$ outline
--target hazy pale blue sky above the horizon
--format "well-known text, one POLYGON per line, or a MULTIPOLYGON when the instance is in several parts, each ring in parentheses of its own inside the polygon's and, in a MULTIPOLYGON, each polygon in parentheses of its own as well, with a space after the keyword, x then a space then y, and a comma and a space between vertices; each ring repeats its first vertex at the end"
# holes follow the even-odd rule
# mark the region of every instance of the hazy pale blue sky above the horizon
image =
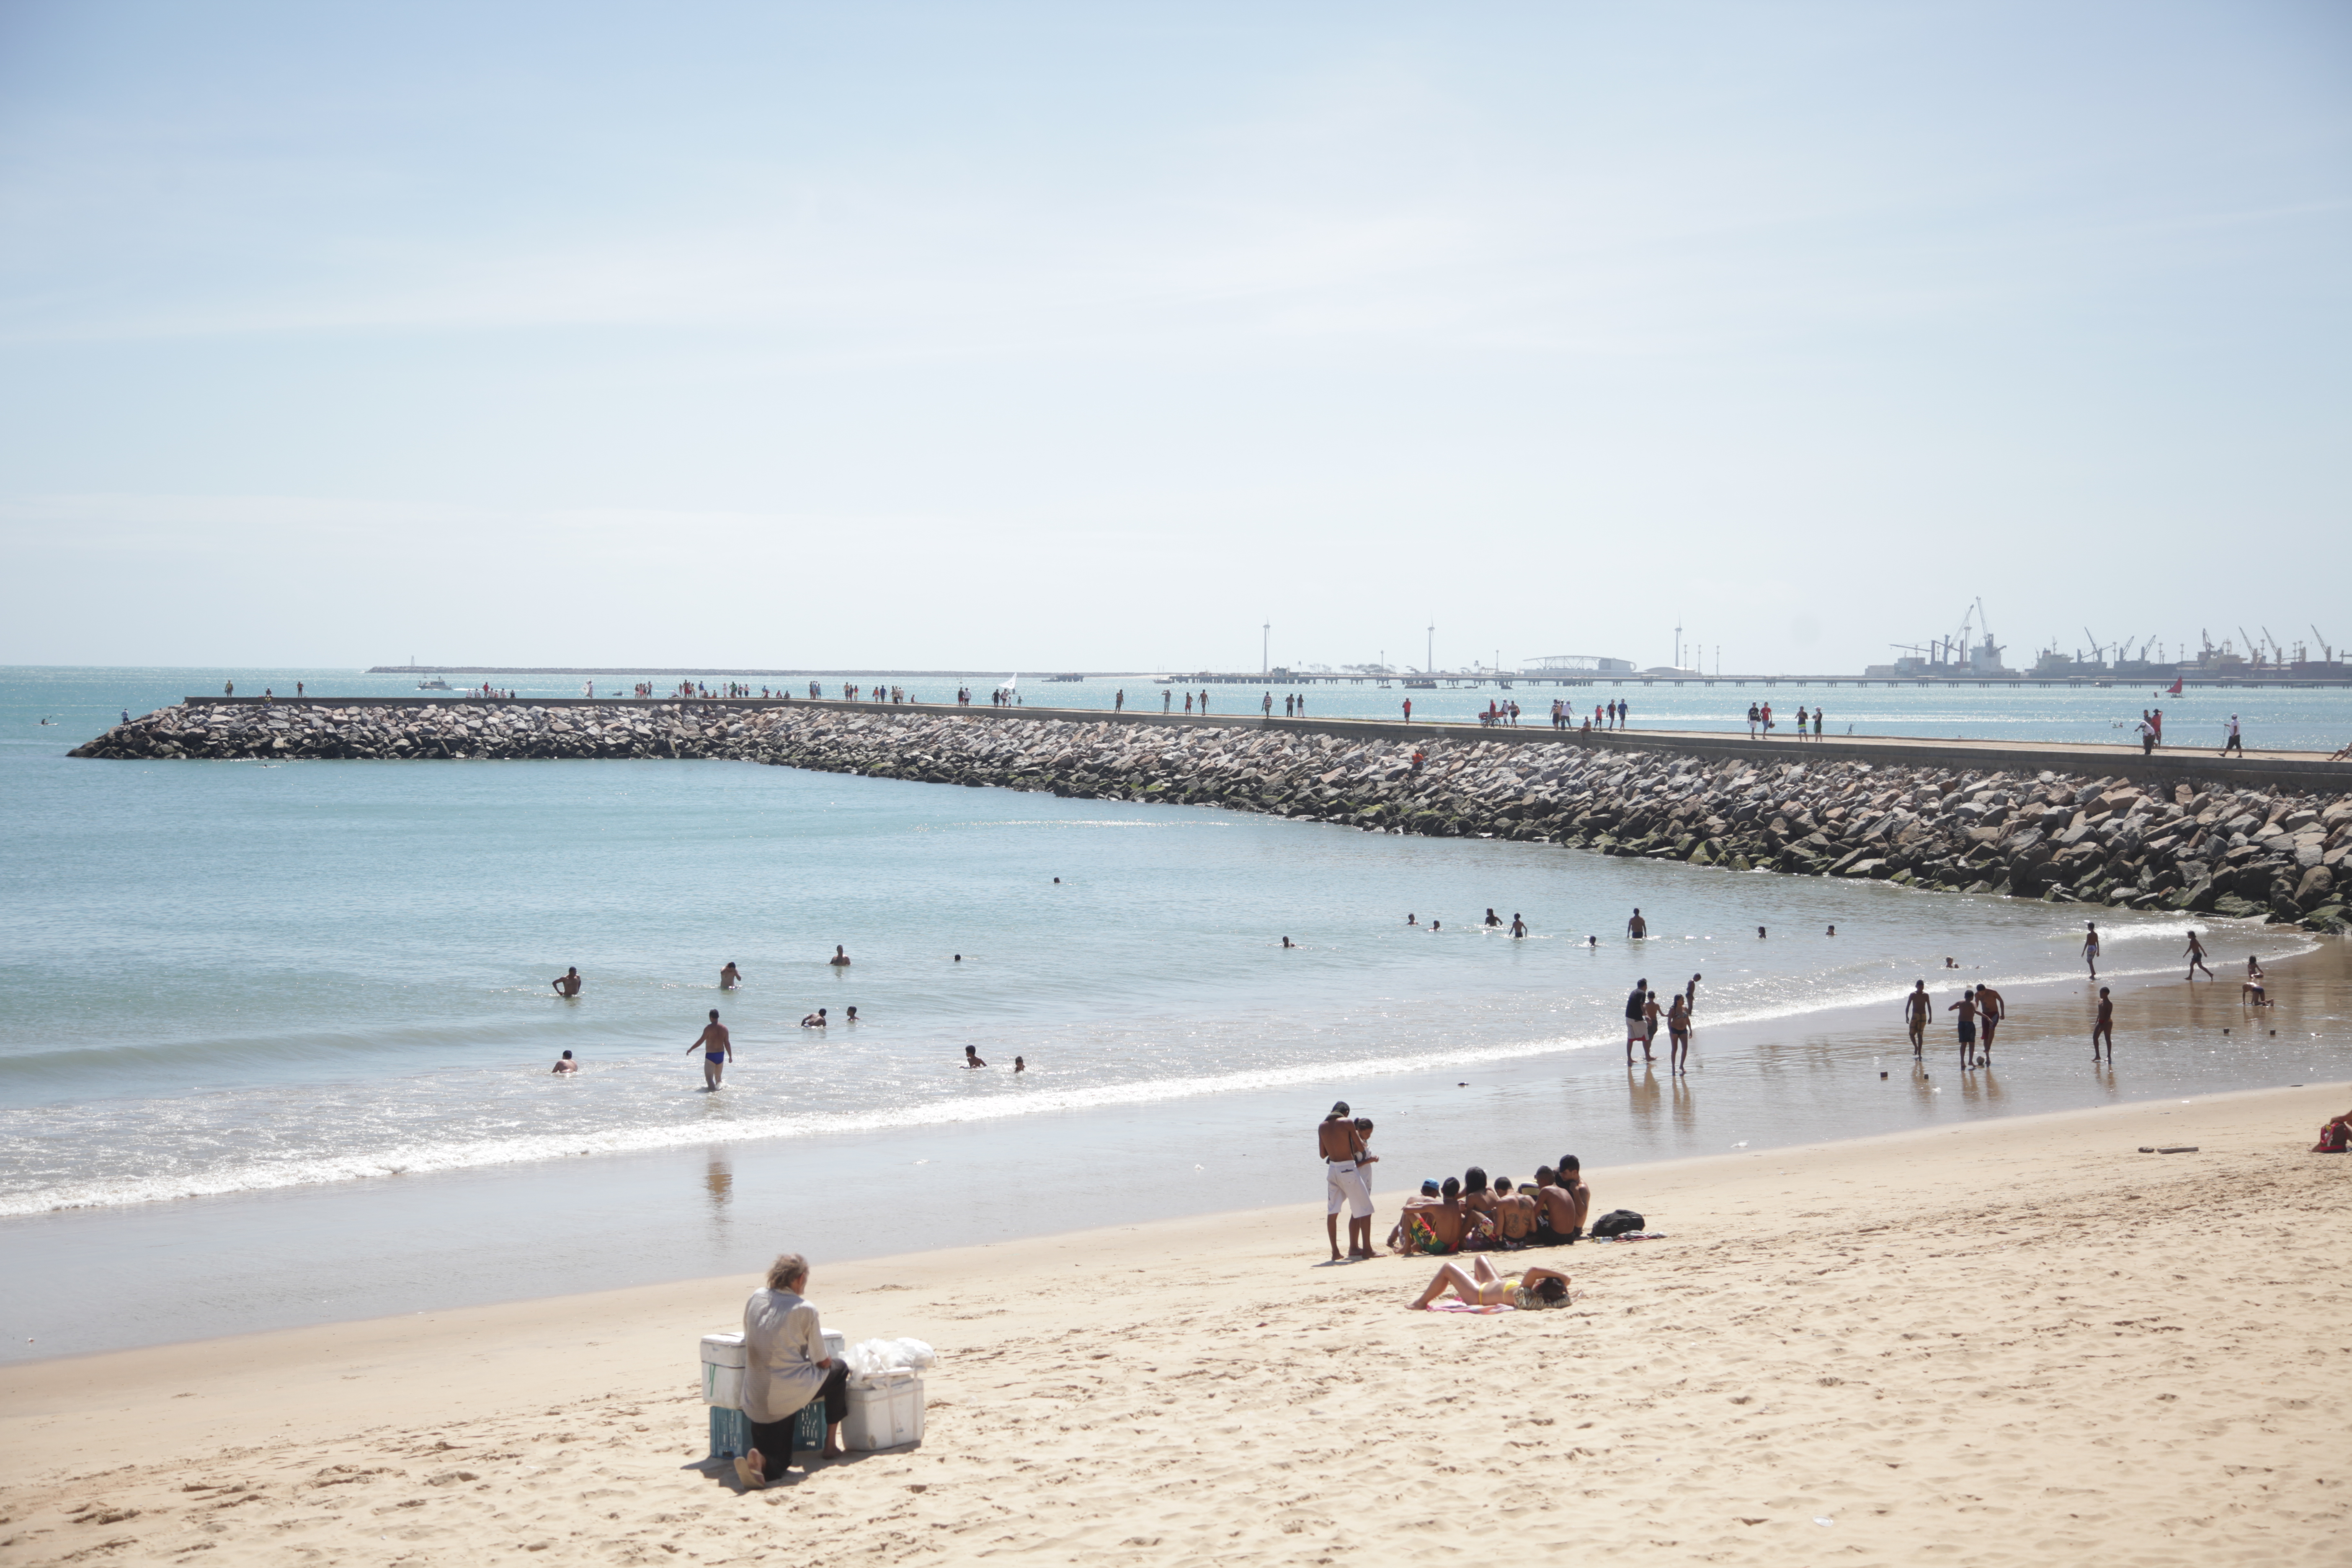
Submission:
POLYGON ((5 663, 2352 644, 2336 0, 0 0, 0 233, 5 663))

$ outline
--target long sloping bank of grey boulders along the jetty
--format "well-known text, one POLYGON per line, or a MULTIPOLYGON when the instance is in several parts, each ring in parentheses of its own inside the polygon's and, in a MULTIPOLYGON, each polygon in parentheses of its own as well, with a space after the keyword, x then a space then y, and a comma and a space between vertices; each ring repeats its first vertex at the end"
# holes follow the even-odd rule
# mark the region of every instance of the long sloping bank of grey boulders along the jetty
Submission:
POLYGON ((191 698, 73 755, 739 759, 2352 931, 2352 792, 2324 780, 2133 783, 2122 771, 1971 769, 1964 757, 1943 766, 1788 750, 1722 757, 1663 738, 1649 750, 1642 736, 1595 748, 1573 733, 1343 729, 835 703, 191 698))

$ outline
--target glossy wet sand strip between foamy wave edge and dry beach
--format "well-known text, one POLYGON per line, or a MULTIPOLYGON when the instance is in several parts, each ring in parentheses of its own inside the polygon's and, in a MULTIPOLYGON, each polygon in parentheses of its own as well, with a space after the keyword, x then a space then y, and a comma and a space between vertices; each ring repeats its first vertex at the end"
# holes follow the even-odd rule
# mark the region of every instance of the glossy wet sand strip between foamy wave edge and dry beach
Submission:
MULTIPOLYGON (((2227 973, 2227 959, 2218 966, 2227 973)), ((2164 973, 2112 976, 2122 1065, 2089 1077, 2079 1051, 2096 987, 2072 978, 2004 983, 2011 1025, 1994 1072, 1955 1072, 1955 1032, 1943 1016, 1924 1060, 1905 1060, 1893 1001, 1750 1023, 1710 1023, 1700 1013, 1686 1079, 1665 1074, 1663 1058, 1653 1070, 1628 1070, 1618 1041, 1597 1041, 1477 1070, 1357 1072, 1315 1088, 1202 1093, 913 1135, 715 1138, 656 1152, 24 1215, 0 1234, 19 1279, 52 1284, 9 1293, 7 1316, 21 1324, 9 1349, 31 1354, 7 1363, 61 1359, 49 1345, 73 1347, 68 1356, 115 1354, 106 1340, 89 1345, 82 1326, 103 1324, 111 1302, 139 1291, 188 1302, 188 1321, 200 1328, 172 1340, 193 1342, 353 1321, 383 1305, 463 1312, 548 1295, 548 1281, 555 1293, 659 1288, 729 1267, 779 1225, 797 1227, 807 1251, 880 1255, 887 1244, 875 1244, 861 1213, 901 1215, 889 1227, 901 1244, 887 1251, 896 1253, 969 1237, 1033 1241, 1120 1215, 1157 1222, 1256 1208, 1263 1194, 1312 1187, 1312 1173, 1284 1161, 1270 1128, 1301 1103, 1327 1103, 1329 1091, 1381 1121, 1388 1164, 1374 1194, 1388 1213, 1418 1175, 1470 1161, 1526 1178, 1573 1150, 1635 1171, 1736 1143, 1769 1152, 1997 1126, 2100 1100, 2253 1093, 2265 1079, 2274 1086, 2336 1072, 2338 1058, 2314 1041, 2352 1030, 2352 945, 2317 938, 2310 952, 2272 961, 2270 973, 2279 1006, 2263 1020, 2239 1004, 2234 978, 2180 985, 2164 973), (2288 1037, 2272 1039, 2270 1027, 2288 1037), (1178 1147, 1183 1159, 1155 1180, 1122 1164, 1120 1150, 1143 1145, 1178 1147), (795 1194, 821 1192, 847 1171, 858 1173, 856 1204, 800 1218, 795 1194), (452 1225, 454 1215, 480 1218, 452 1225), (129 1258, 146 1262, 127 1267, 129 1258), (40 1345, 26 1345, 26 1335, 40 1345)), ((1929 976, 1938 994, 1985 978, 1978 969, 1929 976)))

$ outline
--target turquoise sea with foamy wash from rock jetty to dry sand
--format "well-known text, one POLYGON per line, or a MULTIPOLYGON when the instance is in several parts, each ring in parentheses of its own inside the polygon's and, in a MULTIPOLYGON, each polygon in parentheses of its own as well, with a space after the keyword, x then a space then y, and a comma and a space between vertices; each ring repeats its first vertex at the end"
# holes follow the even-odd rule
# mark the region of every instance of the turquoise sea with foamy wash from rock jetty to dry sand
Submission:
MULTIPOLYGON (((120 1342, 103 1302, 134 1279, 186 1300, 139 1333, 195 1338, 722 1272, 788 1244, 873 1255, 1301 1201, 1319 1192, 1301 1128, 1334 1095, 1383 1121, 1395 1190, 1470 1161, 1524 1178, 1571 1147, 1722 1152, 2347 1063, 2333 1016, 2227 1051, 2138 1039, 2105 1077, 2072 1039, 2027 1046, 2025 1020, 1973 1086, 1877 1060, 1915 978, 1938 1006, 1957 994, 1945 954, 2013 1001, 2070 985, 2084 912, 2056 905, 753 764, 64 757, 99 717, 230 677, 414 689, 0 672, 12 1356, 120 1342), (1644 945, 1623 938, 1635 905, 1644 945), (1482 929, 1489 907, 1536 936, 1482 929), (717 992, 729 959, 736 994, 717 992), (576 1001, 548 990, 569 964, 576 1001), (1625 990, 1691 973, 1703 1072, 1628 1074, 1625 990), (717 1095, 687 1056, 710 1006, 739 1048, 717 1095), (863 1023, 802 1030, 818 1006, 863 1023), (1879 1016, 1877 1044, 1839 1023, 1879 1016), (1740 1044, 1708 1051, 1710 1032, 1740 1044), (967 1044, 985 1072, 957 1067, 967 1044), (560 1051, 576 1079, 548 1074, 560 1051), (1882 1093, 1872 1067, 1903 1072, 1882 1093)), ((1310 710, 1348 691, 1312 689, 1310 710)), ((2314 733, 2352 710, 2232 696, 2277 696, 2272 722, 2314 733)), ((2100 924, 2114 973, 2171 973, 2178 917, 2100 924)))

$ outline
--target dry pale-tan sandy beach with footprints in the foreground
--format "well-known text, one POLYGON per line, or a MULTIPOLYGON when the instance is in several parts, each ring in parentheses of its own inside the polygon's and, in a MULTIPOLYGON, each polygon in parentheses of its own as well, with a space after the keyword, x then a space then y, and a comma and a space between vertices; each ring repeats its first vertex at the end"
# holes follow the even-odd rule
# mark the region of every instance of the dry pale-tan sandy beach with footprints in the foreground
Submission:
POLYGON ((818 1260, 830 1328, 941 1349, 929 1432, 750 1495, 694 1387, 743 1279, 16 1366, 0 1554, 2345 1561, 2347 1105, 1595 1171, 1668 1239, 1548 1253, 1543 1314, 1406 1312, 1435 1265, 1319 1267, 1312 1206, 818 1260))

